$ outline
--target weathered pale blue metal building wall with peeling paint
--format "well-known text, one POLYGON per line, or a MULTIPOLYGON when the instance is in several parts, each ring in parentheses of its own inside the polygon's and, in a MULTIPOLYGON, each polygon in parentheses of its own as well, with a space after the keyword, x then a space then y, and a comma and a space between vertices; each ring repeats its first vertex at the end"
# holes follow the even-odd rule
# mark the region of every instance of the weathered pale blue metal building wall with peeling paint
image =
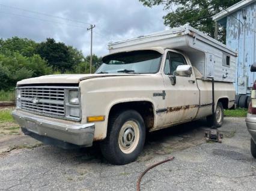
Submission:
POLYGON ((237 94, 250 93, 249 88, 256 80, 255 72, 250 72, 252 63, 256 62, 255 17, 256 2, 227 16, 226 44, 238 51, 235 81, 237 94))

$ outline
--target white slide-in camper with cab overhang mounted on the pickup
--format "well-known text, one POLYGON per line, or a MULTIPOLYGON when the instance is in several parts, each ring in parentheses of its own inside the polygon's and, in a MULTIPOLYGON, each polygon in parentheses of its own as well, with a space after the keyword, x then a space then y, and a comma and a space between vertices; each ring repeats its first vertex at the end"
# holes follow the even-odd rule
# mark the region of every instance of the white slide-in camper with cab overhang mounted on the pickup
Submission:
POLYGON ((109 53, 153 47, 183 52, 203 80, 234 82, 236 77, 236 51, 189 25, 108 44, 109 53))

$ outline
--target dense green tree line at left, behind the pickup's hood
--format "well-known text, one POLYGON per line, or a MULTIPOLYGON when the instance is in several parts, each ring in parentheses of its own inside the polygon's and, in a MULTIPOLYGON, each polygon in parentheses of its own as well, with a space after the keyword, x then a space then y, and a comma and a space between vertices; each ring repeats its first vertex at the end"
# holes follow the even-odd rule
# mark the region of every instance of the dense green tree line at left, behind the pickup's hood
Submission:
MULTIPOLYGON (((101 64, 93 55, 92 70, 101 64)), ((14 89, 17 81, 48 74, 82 74, 90 72, 90 56, 53 38, 36 43, 28 38, 0 38, 0 90, 14 89)))

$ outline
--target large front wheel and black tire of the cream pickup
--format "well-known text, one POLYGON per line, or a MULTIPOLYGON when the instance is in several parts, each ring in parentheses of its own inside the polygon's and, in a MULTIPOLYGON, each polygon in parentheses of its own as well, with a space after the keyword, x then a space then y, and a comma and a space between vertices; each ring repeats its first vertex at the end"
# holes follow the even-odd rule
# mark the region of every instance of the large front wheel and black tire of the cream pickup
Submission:
POLYGON ((126 110, 110 117, 107 137, 100 149, 110 163, 124 165, 136 160, 144 143, 144 120, 137 111, 126 110))

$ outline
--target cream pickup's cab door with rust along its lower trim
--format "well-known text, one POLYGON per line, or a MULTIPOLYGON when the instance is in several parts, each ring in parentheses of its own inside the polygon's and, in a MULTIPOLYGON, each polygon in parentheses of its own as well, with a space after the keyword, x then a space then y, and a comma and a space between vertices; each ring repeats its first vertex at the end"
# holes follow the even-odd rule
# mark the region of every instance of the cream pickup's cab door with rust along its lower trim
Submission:
POLYGON ((183 54, 174 50, 166 50, 164 59, 162 75, 166 92, 165 125, 192 120, 197 115, 200 102, 195 74, 190 77, 176 76, 174 85, 170 80, 178 65, 191 65, 191 63, 183 54))

